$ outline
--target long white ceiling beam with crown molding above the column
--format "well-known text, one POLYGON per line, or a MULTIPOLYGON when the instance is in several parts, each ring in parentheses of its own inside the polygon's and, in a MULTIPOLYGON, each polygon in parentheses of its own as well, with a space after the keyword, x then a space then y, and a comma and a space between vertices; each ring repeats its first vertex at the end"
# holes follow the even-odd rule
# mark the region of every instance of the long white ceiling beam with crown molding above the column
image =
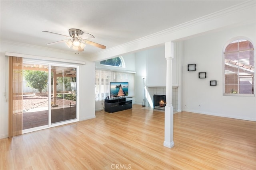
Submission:
MULTIPOLYGON (((164 44, 167 41, 178 41, 180 39, 185 39, 186 37, 190 37, 199 33, 194 33, 192 35, 188 35, 188 33, 186 35, 182 36, 173 36, 175 33, 177 32, 181 32, 182 30, 186 30, 186 29, 190 29, 190 28, 194 28, 198 25, 210 25, 208 27, 211 27, 211 21, 212 24, 216 24, 217 20, 222 21, 223 18, 226 18, 227 16, 232 16, 235 14, 240 14, 243 11, 250 11, 252 12, 254 15, 252 15, 252 19, 248 18, 248 20, 252 20, 254 22, 256 22, 255 16, 256 16, 256 1, 251 0, 251 1, 246 1, 246 2, 242 2, 240 4, 237 4, 235 6, 232 6, 230 8, 226 8, 224 10, 220 10, 218 12, 214 12, 212 14, 208 14, 206 16, 197 18, 195 20, 191 20, 185 23, 182 23, 180 25, 176 25, 174 27, 150 34, 148 36, 142 37, 140 39, 136 39, 134 41, 130 41, 128 43, 124 43, 122 45, 118 45, 116 47, 110 48, 110 49, 105 49, 104 51, 101 51, 99 53, 96 53, 95 55, 90 56, 91 61, 100 61, 104 58, 110 58, 110 57, 116 57, 118 55, 122 55, 125 53, 129 53, 132 51, 138 51, 140 49, 144 49, 147 47, 152 47, 155 45, 159 45, 159 44, 164 44), (164 38, 163 38, 164 37, 164 38), (167 40, 168 39, 168 40, 167 40), (148 43, 151 42, 151 43, 148 43), (144 44, 144 45, 142 45, 144 44), (148 45, 148 46, 147 46, 148 45), (136 47, 137 48, 136 48, 136 47), (118 53, 119 52, 119 53, 118 53), (104 58, 103 58, 104 57, 104 58)), ((244 13, 244 12, 243 12, 244 13)), ((239 21, 237 21, 239 22, 239 21)), ((228 23, 226 23, 228 24, 228 23)), ((225 27, 226 25, 222 25, 222 27, 225 27)), ((207 28, 209 31, 211 28, 207 28)), ((212 29, 217 29, 217 28, 212 28, 212 29)))

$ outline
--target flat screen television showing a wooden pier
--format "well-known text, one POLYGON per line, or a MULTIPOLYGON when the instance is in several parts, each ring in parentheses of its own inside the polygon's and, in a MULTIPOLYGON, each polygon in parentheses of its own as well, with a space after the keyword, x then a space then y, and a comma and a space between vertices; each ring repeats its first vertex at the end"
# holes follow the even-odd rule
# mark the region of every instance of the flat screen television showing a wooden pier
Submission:
POLYGON ((110 82, 110 98, 128 96, 128 82, 110 82))

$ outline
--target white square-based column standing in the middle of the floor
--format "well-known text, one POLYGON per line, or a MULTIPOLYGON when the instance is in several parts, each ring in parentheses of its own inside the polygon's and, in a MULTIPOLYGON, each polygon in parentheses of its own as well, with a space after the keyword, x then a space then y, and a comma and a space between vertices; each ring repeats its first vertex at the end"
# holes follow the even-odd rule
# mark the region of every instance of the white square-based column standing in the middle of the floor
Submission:
POLYGON ((173 107, 172 107, 172 59, 174 57, 173 42, 165 43, 166 58, 166 106, 164 110, 164 146, 174 147, 173 141, 173 107))

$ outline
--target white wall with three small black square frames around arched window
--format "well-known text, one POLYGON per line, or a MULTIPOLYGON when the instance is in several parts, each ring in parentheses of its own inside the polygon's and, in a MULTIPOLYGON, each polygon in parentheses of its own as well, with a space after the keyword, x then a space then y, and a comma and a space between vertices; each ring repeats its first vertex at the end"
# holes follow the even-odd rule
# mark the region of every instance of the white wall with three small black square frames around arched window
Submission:
POLYGON ((247 37, 255 48, 255 23, 183 42, 182 107, 184 111, 256 121, 255 97, 223 96, 223 48, 234 37, 247 37), (196 71, 188 72, 187 64, 194 63, 196 71), (199 79, 198 72, 206 72, 207 78, 199 79), (217 86, 209 86, 210 80, 217 80, 217 86))

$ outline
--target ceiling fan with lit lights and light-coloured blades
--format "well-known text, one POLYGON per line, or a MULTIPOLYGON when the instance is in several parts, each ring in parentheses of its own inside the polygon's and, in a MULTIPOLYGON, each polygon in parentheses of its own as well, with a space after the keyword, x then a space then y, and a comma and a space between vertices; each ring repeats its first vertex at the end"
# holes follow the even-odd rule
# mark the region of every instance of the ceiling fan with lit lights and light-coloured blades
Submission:
MULTIPOLYGON (((53 33, 50 31, 43 31, 43 32, 53 33)), ((69 39, 56 41, 53 43, 48 43, 46 45, 52 45, 52 44, 56 44, 56 43, 66 42, 66 45, 68 45, 69 48, 72 47, 72 49, 78 50, 78 51, 84 51, 84 47, 86 46, 86 44, 93 45, 93 46, 101 48, 101 49, 106 49, 105 45, 101 45, 101 44, 94 43, 92 41, 87 40, 89 38, 95 38, 92 34, 89 34, 89 33, 84 34, 84 32, 82 30, 75 29, 75 28, 68 29, 68 32, 69 32, 70 36, 59 34, 59 33, 53 33, 53 34, 65 36, 69 39)))

